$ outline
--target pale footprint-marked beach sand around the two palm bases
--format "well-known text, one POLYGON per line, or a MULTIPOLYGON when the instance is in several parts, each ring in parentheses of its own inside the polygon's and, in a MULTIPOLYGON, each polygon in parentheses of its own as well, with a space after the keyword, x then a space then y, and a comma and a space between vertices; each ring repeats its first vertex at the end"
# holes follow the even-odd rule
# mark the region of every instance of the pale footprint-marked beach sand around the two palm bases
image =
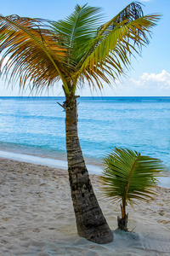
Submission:
POLYGON ((114 241, 98 245, 77 236, 65 170, 14 160, 0 160, 0 255, 170 255, 170 189, 139 207, 127 207, 129 231, 116 230, 118 205, 94 190, 114 241))

